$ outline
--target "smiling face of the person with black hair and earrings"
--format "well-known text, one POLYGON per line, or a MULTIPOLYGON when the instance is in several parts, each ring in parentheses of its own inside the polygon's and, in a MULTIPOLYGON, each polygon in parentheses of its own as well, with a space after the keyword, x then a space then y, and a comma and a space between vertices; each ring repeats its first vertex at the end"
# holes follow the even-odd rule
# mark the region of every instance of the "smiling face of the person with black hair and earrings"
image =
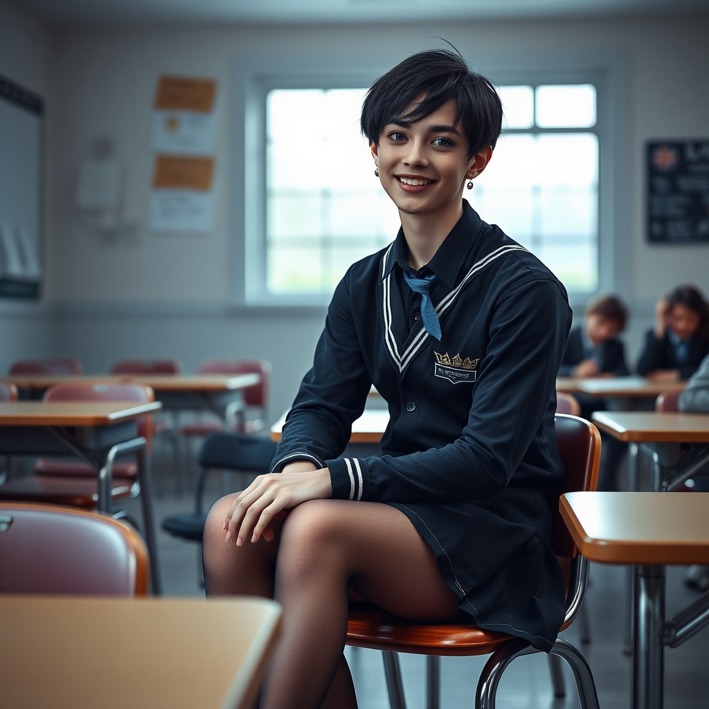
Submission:
POLYGON ((385 125, 379 145, 371 147, 386 194, 407 214, 461 203, 466 180, 477 177, 492 155, 488 147, 468 157, 467 140, 455 125, 452 99, 418 123, 385 125))

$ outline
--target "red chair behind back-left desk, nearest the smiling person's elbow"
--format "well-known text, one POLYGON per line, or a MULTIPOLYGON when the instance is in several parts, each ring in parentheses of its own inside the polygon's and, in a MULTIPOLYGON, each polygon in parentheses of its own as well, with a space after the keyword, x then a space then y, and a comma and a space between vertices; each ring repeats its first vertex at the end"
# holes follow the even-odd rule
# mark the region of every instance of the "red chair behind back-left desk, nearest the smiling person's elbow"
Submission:
MULTIPOLYGON (((226 428, 233 429, 233 432, 253 433, 264 425, 272 371, 271 363, 265 359, 208 359, 199 364, 196 374, 259 374, 261 381, 253 386, 247 386, 242 391, 241 400, 246 409, 259 410, 256 418, 247 420, 244 415, 241 421, 228 419, 226 422, 226 428)), ((245 414, 245 411, 241 413, 245 414)), ((182 426, 180 433, 187 438, 203 438, 224 430, 223 423, 198 421, 182 426)))

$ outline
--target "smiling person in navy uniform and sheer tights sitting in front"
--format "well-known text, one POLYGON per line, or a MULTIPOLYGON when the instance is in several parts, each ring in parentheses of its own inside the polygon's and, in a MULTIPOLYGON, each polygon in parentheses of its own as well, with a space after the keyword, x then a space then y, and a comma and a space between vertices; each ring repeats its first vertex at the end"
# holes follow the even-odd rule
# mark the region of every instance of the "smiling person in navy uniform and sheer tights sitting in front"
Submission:
POLYGON ((356 707, 348 598, 540 649, 556 638, 549 492, 565 476, 554 383, 571 311, 549 269, 463 199, 501 121, 490 82, 447 51, 408 57, 364 101, 401 229, 337 286, 272 473, 218 501, 204 531, 210 596, 283 607, 264 708, 356 707), (372 384, 389 405, 384 454, 338 457, 372 384))

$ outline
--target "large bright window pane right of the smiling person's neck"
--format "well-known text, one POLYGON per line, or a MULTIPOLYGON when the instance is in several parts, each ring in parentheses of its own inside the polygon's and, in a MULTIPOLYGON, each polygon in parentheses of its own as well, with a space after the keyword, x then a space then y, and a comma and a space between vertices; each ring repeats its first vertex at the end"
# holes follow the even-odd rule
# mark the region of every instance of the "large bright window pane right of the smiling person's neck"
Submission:
POLYGON ((566 289, 598 287, 598 138, 517 133, 498 141, 469 195, 489 223, 542 259, 566 289))

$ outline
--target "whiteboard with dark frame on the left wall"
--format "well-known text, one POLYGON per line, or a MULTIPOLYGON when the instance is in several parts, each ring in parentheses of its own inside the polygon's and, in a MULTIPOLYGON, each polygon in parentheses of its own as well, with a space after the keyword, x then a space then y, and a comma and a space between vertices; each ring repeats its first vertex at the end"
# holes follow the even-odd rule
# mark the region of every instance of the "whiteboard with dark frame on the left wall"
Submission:
POLYGON ((0 77, 0 296, 38 298, 42 283, 44 102, 0 77))

